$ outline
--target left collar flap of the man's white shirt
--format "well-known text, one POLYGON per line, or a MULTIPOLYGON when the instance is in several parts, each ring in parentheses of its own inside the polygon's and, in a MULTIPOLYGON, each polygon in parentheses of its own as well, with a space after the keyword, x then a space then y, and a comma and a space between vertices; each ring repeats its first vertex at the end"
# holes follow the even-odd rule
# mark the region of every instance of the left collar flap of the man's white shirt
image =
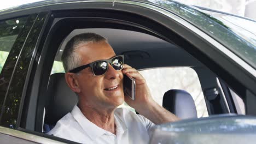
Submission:
POLYGON ((83 113, 80 111, 77 105, 74 106, 71 114, 75 118, 75 120, 79 123, 79 125, 83 128, 85 133, 90 137, 91 140, 96 140, 97 137, 103 135, 107 131, 98 127, 96 124, 92 123, 87 119, 83 113))

